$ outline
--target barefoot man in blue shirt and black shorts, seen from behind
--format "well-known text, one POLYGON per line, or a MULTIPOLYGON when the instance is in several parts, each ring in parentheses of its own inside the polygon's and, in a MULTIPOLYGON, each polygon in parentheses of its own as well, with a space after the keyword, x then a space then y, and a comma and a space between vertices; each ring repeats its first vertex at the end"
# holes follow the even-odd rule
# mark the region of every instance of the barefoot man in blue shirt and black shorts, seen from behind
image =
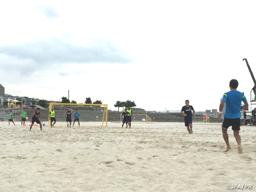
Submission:
POLYGON ((236 138, 236 142, 237 142, 238 153, 241 154, 243 151, 241 148, 241 137, 239 135, 240 118, 241 118, 240 106, 241 106, 241 102, 244 102, 244 108, 242 109, 242 111, 246 113, 248 102, 244 94, 236 90, 237 87, 238 87, 238 81, 236 79, 232 79, 229 82, 230 91, 224 93, 222 96, 222 101, 220 102, 218 119, 220 120, 222 116, 222 109, 226 102, 226 110, 224 114, 224 120, 222 122, 222 136, 227 145, 225 152, 231 149, 229 140, 228 140, 228 128, 232 126, 234 137, 236 138))

